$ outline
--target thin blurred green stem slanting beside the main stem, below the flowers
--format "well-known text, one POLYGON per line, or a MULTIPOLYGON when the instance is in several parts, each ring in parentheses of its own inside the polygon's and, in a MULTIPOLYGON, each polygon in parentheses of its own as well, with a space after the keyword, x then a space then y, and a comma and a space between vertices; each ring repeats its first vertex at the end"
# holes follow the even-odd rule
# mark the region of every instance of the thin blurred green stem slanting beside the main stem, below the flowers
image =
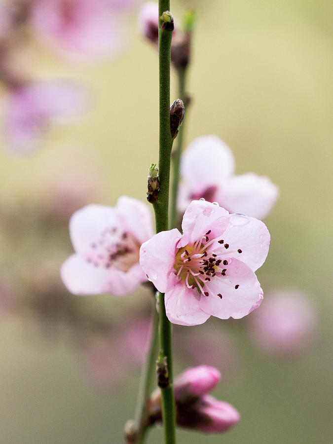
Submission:
POLYGON ((152 381, 155 381, 156 357, 158 355, 158 316, 155 307, 151 313, 151 338, 146 361, 143 365, 139 384, 139 393, 135 411, 135 425, 138 430, 136 444, 142 444, 148 429, 147 420, 147 400, 152 388, 152 381))

